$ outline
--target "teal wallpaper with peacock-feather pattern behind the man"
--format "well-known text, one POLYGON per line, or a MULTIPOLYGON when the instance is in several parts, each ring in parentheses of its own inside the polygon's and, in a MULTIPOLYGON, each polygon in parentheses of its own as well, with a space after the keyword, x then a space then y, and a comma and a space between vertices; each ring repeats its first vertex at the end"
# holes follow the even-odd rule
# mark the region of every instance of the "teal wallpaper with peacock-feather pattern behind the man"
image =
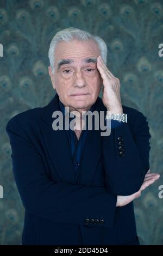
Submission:
MULTIPOLYGON (((20 245, 24 209, 12 175, 5 126, 26 109, 45 106, 55 95, 48 77, 48 47, 54 34, 77 27, 101 36, 108 46, 108 68, 120 78, 122 104, 141 111, 149 122, 151 171, 163 174, 163 1, 0 0, 1 169, 0 245, 20 245)), ((163 245, 163 175, 135 199, 141 244, 163 245)))

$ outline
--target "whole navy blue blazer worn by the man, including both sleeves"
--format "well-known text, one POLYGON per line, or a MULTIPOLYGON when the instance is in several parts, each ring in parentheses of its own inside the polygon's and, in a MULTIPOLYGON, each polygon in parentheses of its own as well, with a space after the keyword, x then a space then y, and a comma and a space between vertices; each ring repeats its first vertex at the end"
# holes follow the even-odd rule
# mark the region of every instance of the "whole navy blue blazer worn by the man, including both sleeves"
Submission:
MULTIPOLYGON (((52 128, 58 100, 55 94, 48 105, 15 115, 6 127, 25 208, 22 244, 139 245, 133 202, 116 207, 116 200, 139 191, 149 169, 146 117, 122 105, 128 123, 109 136, 88 130, 76 182, 66 131, 52 128)), ((95 110, 106 113, 100 97, 95 110)))

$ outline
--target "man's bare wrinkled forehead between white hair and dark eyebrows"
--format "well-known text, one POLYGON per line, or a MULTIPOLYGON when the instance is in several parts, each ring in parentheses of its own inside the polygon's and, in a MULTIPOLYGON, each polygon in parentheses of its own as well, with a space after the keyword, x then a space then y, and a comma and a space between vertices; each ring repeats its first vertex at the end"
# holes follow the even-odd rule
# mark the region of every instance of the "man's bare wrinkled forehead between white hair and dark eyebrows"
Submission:
POLYGON ((86 58, 97 58, 99 54, 98 45, 92 40, 61 41, 55 47, 55 62, 58 63, 62 59, 73 59, 73 62, 83 62, 86 58))

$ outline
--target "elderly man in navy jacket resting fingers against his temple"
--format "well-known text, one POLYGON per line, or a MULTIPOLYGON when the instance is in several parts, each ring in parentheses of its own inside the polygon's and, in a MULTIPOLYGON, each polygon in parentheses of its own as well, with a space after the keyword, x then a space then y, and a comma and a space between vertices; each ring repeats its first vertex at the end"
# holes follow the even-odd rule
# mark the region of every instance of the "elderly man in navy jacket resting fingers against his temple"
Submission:
POLYGON ((133 200, 159 174, 149 172, 146 117, 122 105, 120 80, 106 67, 106 54, 99 36, 77 28, 55 34, 49 75, 57 93, 47 106, 7 124, 25 208, 23 245, 139 245, 133 200), (110 120, 109 136, 83 129, 83 112, 93 111, 110 120), (58 112, 70 120, 79 113, 74 130, 54 129, 58 112))

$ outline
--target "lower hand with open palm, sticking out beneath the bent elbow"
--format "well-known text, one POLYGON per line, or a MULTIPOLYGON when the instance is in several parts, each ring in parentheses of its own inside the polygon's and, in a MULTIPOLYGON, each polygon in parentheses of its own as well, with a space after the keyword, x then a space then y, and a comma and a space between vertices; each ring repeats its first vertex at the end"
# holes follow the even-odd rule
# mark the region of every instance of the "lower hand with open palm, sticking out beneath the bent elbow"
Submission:
POLYGON ((145 179, 143 181, 143 184, 140 187, 140 190, 137 191, 134 194, 130 194, 129 196, 117 196, 117 204, 116 206, 124 206, 129 204, 131 201, 133 201, 135 198, 138 198, 141 196, 141 192, 145 190, 149 185, 153 184, 155 180, 158 180, 160 178, 160 174, 158 173, 149 173, 150 170, 148 170, 145 179))

